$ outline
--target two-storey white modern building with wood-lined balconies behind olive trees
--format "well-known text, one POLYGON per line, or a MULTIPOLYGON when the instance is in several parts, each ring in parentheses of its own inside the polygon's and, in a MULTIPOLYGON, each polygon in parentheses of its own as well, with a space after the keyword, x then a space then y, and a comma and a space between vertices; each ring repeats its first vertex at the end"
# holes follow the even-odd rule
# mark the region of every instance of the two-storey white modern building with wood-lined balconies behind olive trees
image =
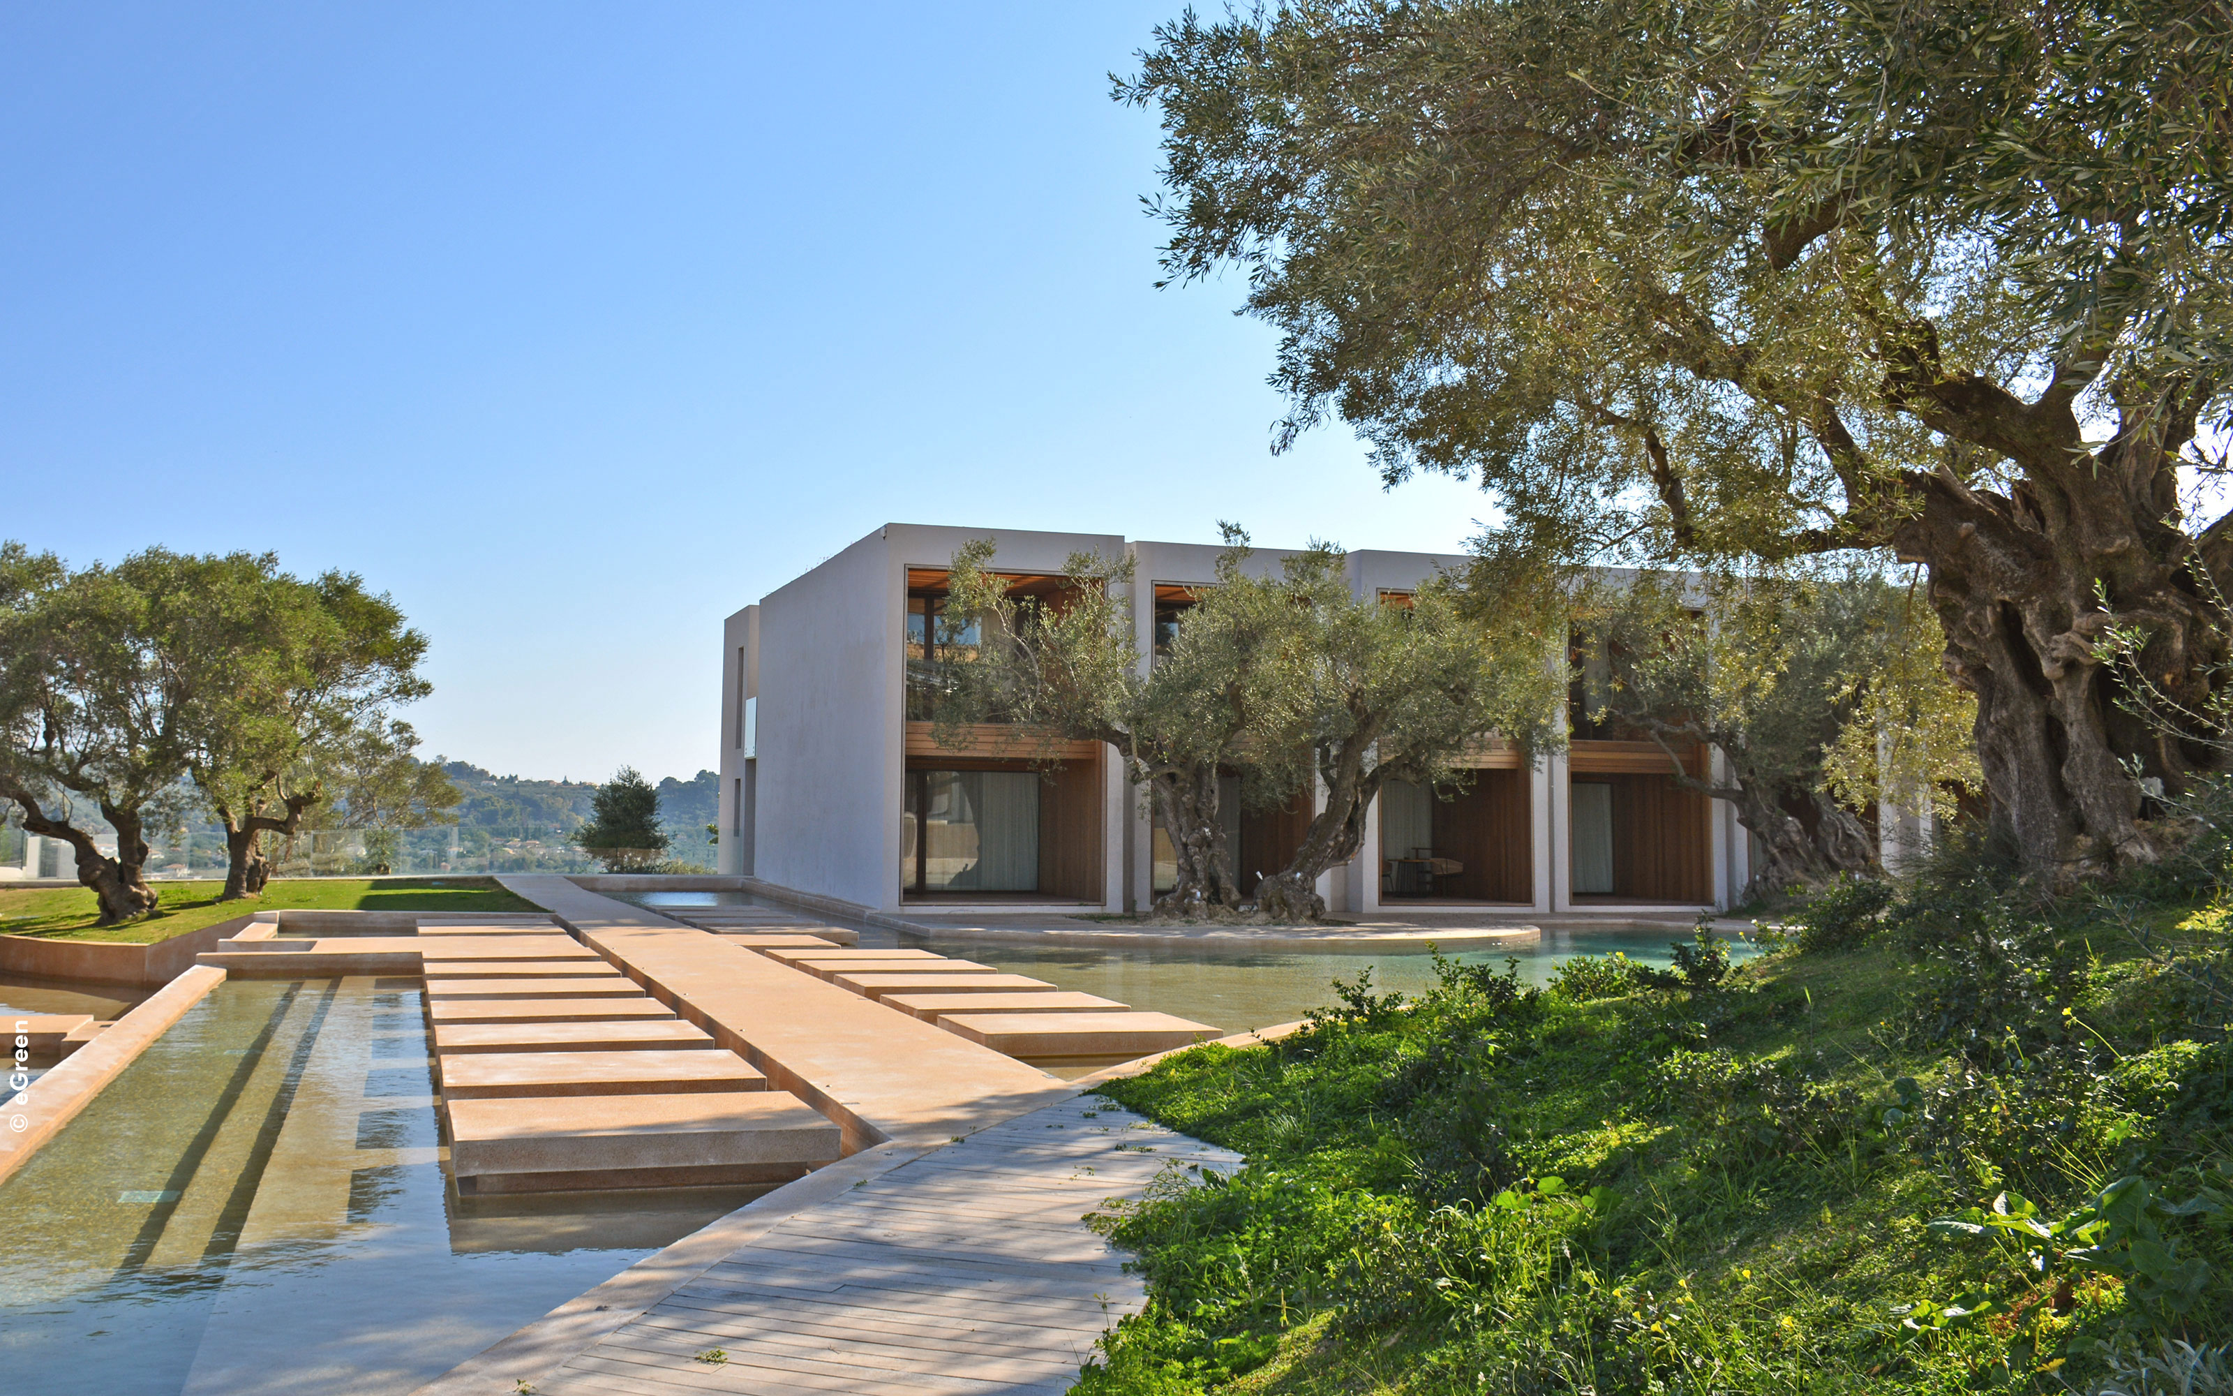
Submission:
MULTIPOLYGON (((1168 887, 1168 844, 1105 746, 1072 744, 1047 773, 998 730, 951 748, 911 717, 909 663, 936 659, 947 567, 976 538, 994 541, 991 565, 1016 592, 1061 585, 1074 552, 1130 556, 1141 663, 1159 625, 1215 581, 1221 552, 893 523, 739 610, 721 637, 723 873, 942 914, 1137 911, 1168 887)), ((1248 565, 1271 572, 1282 556, 1257 549, 1248 565)), ((1400 599, 1463 561, 1351 552, 1349 576, 1358 596, 1400 599)), ((1536 768, 1498 744, 1474 759, 1456 797, 1389 786, 1376 800, 1362 853, 1320 885, 1335 914, 1666 914, 1726 907, 1748 878, 1735 809, 1677 784, 1657 744, 1576 730, 1536 768)), ((1713 757, 1690 759, 1704 775, 1713 757)), ((1313 813, 1304 797, 1264 813, 1221 804, 1244 889, 1286 862, 1313 813)))

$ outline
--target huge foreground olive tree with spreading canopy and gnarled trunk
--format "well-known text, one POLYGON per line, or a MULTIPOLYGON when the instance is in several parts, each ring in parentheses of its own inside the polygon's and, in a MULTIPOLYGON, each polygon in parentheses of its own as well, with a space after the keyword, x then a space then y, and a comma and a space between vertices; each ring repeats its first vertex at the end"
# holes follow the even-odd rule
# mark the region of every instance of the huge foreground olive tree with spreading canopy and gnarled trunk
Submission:
POLYGON ((2233 11, 2135 0, 1313 0, 1163 25, 1166 268, 1248 272, 1284 436, 1478 478, 1543 558, 1923 563, 1994 824, 2159 858, 2215 759, 2097 654, 2226 681, 2233 11))

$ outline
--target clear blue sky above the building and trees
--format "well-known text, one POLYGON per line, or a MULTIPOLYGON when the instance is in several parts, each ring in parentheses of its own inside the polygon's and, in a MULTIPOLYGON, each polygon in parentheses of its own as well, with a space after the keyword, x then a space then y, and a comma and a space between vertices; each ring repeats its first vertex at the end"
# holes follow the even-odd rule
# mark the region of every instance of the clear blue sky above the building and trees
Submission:
POLYGON ((715 764, 721 616, 887 520, 1456 549, 1154 290, 1177 9, 13 4, 0 536, 362 572, 429 755, 576 780, 715 764))

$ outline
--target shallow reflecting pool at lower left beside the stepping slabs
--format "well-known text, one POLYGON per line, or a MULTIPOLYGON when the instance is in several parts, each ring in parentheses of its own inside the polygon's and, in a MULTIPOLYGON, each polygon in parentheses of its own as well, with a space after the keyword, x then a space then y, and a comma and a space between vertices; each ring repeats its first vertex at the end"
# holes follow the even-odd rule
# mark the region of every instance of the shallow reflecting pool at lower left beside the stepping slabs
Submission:
POLYGON ((456 1197, 420 998, 226 983, 0 1184, 0 1389, 411 1392, 755 1195, 456 1197))

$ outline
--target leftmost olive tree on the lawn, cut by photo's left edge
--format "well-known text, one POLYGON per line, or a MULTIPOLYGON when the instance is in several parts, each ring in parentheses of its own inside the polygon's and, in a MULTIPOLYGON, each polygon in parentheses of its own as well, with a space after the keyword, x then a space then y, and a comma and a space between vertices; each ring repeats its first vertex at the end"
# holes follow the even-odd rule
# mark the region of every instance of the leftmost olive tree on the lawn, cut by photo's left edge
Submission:
POLYGON ((237 646, 203 596, 257 558, 150 547, 71 572, 54 554, 0 545, 0 800, 22 829, 63 840, 100 925, 156 907, 145 880, 150 817, 170 822, 212 695, 237 646), (105 853, 76 809, 116 831, 105 853))

